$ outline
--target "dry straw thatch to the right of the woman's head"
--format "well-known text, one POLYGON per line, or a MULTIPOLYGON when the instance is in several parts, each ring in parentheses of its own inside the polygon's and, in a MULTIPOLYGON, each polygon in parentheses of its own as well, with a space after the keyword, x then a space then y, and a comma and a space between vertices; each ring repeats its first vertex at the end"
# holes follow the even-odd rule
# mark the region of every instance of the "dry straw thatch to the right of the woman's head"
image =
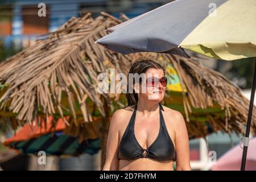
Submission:
MULTIPOLYGON (((206 108, 213 106, 216 102, 222 110, 225 110, 225 118, 218 118, 218 122, 211 115, 208 115, 208 122, 214 131, 221 130, 225 133, 235 131, 237 134, 245 133, 249 100, 242 95, 242 90, 232 84, 224 75, 204 67, 196 59, 184 59, 183 57, 172 57, 172 63, 181 79, 181 82, 188 90, 188 97, 184 97, 184 110, 186 118, 188 112, 191 113, 191 106, 206 108)), ((256 134, 256 107, 252 117, 252 132, 256 134)), ((199 124, 199 123, 197 123, 199 124)), ((201 127, 204 128, 204 127, 201 127)), ((205 133, 205 132, 204 132, 205 133)))

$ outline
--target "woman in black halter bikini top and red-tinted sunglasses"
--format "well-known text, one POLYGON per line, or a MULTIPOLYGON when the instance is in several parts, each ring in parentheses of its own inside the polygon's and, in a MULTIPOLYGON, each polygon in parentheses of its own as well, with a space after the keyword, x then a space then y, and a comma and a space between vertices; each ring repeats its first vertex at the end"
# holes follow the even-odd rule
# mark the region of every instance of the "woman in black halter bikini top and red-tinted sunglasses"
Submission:
POLYGON ((167 85, 164 68, 137 60, 129 73, 144 73, 145 79, 128 83, 128 106, 112 116, 103 170, 174 170, 175 161, 176 170, 191 170, 183 115, 160 104, 167 85))

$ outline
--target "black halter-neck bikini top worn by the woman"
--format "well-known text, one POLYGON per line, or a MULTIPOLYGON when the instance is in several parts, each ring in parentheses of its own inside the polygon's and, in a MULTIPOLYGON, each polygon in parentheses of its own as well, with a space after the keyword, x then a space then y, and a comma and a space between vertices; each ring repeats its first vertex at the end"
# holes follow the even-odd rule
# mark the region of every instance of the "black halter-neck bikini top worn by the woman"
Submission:
POLYGON ((137 111, 137 105, 134 107, 133 115, 131 115, 129 124, 119 143, 118 159, 133 160, 138 158, 151 158, 159 161, 176 160, 174 143, 166 129, 162 114, 163 106, 159 103, 160 129, 158 137, 147 148, 144 149, 135 138, 134 123, 137 111))

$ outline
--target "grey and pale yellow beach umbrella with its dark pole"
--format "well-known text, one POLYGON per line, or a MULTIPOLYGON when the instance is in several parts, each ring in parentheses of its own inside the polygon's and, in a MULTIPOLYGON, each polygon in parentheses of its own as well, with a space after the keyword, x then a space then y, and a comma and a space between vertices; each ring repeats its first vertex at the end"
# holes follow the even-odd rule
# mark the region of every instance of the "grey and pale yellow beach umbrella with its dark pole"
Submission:
MULTIPOLYGON (((254 0, 174 1, 109 28, 112 33, 96 43, 123 54, 151 51, 188 57, 185 48, 221 60, 256 57, 255 9, 254 0)), ((249 144, 255 77, 254 72, 241 170, 249 144)))

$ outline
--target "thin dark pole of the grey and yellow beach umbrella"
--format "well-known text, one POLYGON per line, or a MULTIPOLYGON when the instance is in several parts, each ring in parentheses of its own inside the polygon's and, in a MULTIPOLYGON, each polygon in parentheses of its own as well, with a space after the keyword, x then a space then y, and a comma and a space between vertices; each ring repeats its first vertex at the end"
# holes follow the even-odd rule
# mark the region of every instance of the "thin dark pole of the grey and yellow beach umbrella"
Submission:
POLYGON ((245 133, 245 137, 243 138, 243 155, 242 155, 241 171, 245 171, 247 148, 249 146, 251 115, 253 113, 253 102, 254 102, 254 94, 255 94, 255 86, 256 86, 255 72, 256 72, 256 60, 255 60, 255 67, 254 67, 253 86, 251 87, 251 98, 250 98, 249 113, 247 118, 246 133, 245 133))

